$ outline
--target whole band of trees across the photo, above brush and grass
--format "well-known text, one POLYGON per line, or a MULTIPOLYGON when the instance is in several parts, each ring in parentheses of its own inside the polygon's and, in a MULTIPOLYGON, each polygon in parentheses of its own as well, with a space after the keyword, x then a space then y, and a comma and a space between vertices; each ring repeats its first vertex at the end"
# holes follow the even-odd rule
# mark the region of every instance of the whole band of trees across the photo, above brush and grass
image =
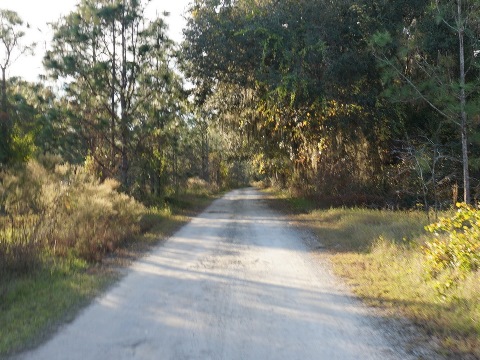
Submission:
POLYGON ((195 176, 325 204, 478 198, 475 1, 195 0, 180 46, 145 6, 81 0, 53 24, 60 92, 6 79, 28 29, 2 10, 2 166, 52 153, 139 199, 195 176))

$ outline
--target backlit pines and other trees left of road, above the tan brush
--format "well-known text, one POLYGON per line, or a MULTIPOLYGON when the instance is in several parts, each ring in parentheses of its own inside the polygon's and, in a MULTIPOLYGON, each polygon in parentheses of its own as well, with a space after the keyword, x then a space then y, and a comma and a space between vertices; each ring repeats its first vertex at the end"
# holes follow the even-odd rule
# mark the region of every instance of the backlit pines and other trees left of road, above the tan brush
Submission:
POLYGON ((16 58, 35 50, 22 45, 29 28, 20 16, 0 11, 3 170, 57 155, 147 203, 189 178, 227 185, 228 164, 217 161, 221 139, 189 100, 168 14, 147 18, 146 5, 79 1, 52 24, 47 78, 36 83, 6 77, 16 58))

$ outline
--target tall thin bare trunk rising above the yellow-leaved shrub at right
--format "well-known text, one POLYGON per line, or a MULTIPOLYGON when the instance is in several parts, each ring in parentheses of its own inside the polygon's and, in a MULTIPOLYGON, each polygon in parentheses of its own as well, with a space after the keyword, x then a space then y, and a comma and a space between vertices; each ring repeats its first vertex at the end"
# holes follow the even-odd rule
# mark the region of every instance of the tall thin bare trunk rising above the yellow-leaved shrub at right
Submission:
POLYGON ((468 123, 465 95, 465 48, 463 44, 465 36, 465 24, 462 19, 462 0, 457 0, 457 15, 458 15, 458 40, 459 40, 459 55, 460 55, 460 128, 462 133, 462 164, 463 164, 463 201, 470 203, 470 175, 468 171, 468 123))

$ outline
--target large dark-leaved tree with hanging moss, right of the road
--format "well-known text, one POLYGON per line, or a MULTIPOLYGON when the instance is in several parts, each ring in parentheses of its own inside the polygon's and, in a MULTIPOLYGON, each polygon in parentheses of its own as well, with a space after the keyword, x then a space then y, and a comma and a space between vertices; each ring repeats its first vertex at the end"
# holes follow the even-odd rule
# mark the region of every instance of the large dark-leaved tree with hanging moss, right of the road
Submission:
POLYGON ((267 176, 338 195, 381 187, 395 114, 378 101, 362 6, 203 0, 191 15, 184 57, 198 102, 246 138, 267 176))

